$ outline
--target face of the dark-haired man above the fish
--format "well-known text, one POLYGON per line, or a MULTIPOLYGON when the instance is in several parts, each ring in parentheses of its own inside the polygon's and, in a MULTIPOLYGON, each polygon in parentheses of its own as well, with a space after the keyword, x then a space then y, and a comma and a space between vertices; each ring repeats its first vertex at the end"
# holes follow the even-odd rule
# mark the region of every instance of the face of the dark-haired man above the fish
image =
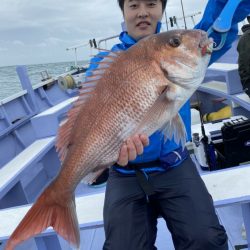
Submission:
POLYGON ((161 0, 125 0, 124 19, 128 34, 139 40, 156 31, 162 18, 161 0))

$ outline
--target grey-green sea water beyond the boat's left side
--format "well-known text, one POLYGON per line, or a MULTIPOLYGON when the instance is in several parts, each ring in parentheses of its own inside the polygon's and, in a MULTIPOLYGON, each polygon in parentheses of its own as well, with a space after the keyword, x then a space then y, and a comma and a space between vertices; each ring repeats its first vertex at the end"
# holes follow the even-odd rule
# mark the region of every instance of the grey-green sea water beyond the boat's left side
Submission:
MULTIPOLYGON (((78 65, 83 66, 87 61, 79 61, 78 65)), ((28 74, 32 85, 42 80, 41 72, 47 70, 49 76, 56 77, 66 72, 66 69, 74 65, 74 62, 44 63, 27 65, 28 74)), ((22 90, 16 66, 0 67, 0 100, 11 96, 22 90)))

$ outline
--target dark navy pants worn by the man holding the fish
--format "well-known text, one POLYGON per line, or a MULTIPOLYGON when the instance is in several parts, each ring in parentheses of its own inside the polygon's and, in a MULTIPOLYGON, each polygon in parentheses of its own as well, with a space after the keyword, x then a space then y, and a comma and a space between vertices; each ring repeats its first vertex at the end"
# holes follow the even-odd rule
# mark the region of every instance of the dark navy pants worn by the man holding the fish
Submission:
MULTIPOLYGON (((162 216, 177 250, 226 250, 227 236, 192 160, 149 174, 155 194, 147 202, 132 175, 110 170, 104 204, 104 250, 153 250, 162 216)), ((168 246, 166 245, 166 249, 168 246)))

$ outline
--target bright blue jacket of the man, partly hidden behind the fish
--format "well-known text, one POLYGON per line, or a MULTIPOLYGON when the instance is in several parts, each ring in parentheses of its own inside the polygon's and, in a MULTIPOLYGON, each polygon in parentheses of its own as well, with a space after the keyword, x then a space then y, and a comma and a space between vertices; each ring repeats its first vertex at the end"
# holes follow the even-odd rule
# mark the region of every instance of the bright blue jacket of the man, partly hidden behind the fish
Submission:
MULTIPOLYGON (((208 14, 209 15, 209 14, 208 14)), ((203 19, 206 18, 203 16, 203 19)), ((207 26, 206 22, 200 22, 195 29, 203 29, 202 24, 206 24, 204 26, 207 26)), ((156 33, 160 32, 160 23, 157 25, 156 33)), ((203 30, 207 30, 209 27, 205 27, 203 30)), ((216 36, 216 34, 215 34, 216 36)), ((219 34, 218 34, 219 36, 219 34)), ((210 64, 213 63, 215 60, 217 60, 220 56, 222 56, 231 46, 231 43, 236 39, 237 37, 237 28, 234 26, 229 34, 226 41, 225 46, 219 50, 215 51, 212 54, 210 64)), ((134 40, 132 37, 128 35, 126 31, 123 31, 119 39, 121 43, 116 44, 111 49, 112 51, 121 51, 121 50, 127 50, 131 46, 133 46, 136 43, 136 40, 134 40)), ((216 37, 214 38, 216 40, 216 37)), ((107 55, 107 52, 100 52, 99 55, 107 55)), ((91 75, 91 71, 98 67, 96 62, 100 61, 101 59, 98 57, 94 57, 90 61, 90 67, 88 71, 86 72, 86 76, 91 75)), ((182 117, 182 120, 185 124, 186 131, 187 131, 187 141, 191 140, 191 111, 190 111, 190 102, 187 101, 182 108, 179 111, 180 116, 182 117)), ((180 145, 177 145, 174 140, 167 140, 164 142, 164 135, 160 131, 156 131, 154 134, 152 134, 149 137, 149 145, 144 148, 144 152, 142 155, 138 155, 134 161, 130 161, 129 164, 141 164, 145 162, 161 162, 161 164, 152 164, 152 167, 143 169, 146 172, 152 172, 152 171, 166 171, 166 169, 176 167, 181 164, 181 162, 186 159, 187 157, 187 150, 182 151, 180 145)), ((115 169, 121 173, 131 173, 131 170, 128 170, 124 167, 119 167, 118 165, 115 165, 115 169)))

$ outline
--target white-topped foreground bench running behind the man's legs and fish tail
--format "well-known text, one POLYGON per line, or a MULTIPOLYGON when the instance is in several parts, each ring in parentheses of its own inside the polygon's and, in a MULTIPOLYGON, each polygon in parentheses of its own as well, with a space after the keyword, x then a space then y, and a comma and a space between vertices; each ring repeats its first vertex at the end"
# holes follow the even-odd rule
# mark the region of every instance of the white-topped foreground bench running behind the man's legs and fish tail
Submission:
MULTIPOLYGON (((202 175, 202 179, 214 199, 215 207, 218 208, 242 204, 243 219, 247 230, 248 242, 250 242, 248 233, 248 230, 250 229, 249 176, 250 165, 219 170, 202 175)), ((76 198, 77 216, 81 230, 94 229, 103 226, 103 202, 104 192, 76 198)), ((31 205, 25 205, 4 209, 2 211, 0 210, 0 241, 3 242, 3 246, 30 206, 31 205)), ((36 244, 41 244, 42 241, 44 244, 45 241, 47 248, 38 247, 38 249, 64 249, 62 246, 59 246, 59 243, 62 241, 58 238, 52 228, 48 228, 36 237, 36 244), (54 237, 53 240, 51 238, 52 236, 54 237), (50 240, 46 239, 47 237, 50 237, 50 240)), ((66 243, 64 242, 64 244, 66 243)))

